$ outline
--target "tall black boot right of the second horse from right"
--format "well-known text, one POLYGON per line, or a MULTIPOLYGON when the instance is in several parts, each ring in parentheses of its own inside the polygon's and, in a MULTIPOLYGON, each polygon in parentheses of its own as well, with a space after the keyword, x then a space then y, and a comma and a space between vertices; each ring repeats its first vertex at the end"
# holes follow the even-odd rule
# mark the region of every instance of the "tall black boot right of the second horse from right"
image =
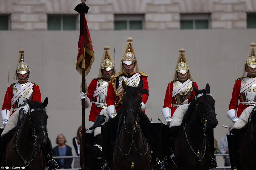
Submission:
POLYGON ((218 167, 217 162, 213 158, 213 154, 214 154, 213 129, 207 129, 206 134, 207 134, 207 137, 208 137, 208 142, 209 142, 209 147, 210 147, 210 154, 211 154, 209 169, 217 168, 218 167))

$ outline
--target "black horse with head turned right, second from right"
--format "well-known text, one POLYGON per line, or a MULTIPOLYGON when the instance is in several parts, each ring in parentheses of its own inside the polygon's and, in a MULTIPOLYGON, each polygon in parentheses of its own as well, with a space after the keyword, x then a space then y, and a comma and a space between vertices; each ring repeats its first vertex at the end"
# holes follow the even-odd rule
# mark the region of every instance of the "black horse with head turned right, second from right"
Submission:
POLYGON ((208 170, 210 149, 208 146, 207 130, 213 130, 218 124, 215 114, 215 100, 210 94, 210 86, 205 90, 197 90, 183 117, 180 133, 175 134, 170 147, 174 152, 179 170, 208 170))

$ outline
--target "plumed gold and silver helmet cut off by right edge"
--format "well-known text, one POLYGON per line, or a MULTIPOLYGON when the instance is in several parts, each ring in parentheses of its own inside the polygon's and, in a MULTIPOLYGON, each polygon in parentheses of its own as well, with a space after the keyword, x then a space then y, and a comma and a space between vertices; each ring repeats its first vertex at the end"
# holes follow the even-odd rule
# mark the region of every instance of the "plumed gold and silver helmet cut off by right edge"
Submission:
MULTIPOLYGON (((247 54, 247 59, 245 62, 245 67, 243 69, 243 76, 245 76, 245 68, 247 68, 248 70, 251 70, 250 68, 256 68, 256 58, 255 58, 255 43, 252 42, 250 43, 250 49, 249 52, 247 54)), ((252 71, 251 71, 252 72, 252 71)))

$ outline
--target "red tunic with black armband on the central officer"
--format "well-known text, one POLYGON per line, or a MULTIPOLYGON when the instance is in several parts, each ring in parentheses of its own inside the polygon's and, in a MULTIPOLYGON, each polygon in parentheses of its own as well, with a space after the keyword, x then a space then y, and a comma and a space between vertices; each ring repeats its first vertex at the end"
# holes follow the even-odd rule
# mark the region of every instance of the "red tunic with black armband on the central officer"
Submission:
MULTIPOLYGON (((122 75, 121 75, 122 76, 122 75)), ((114 87, 112 85, 112 81, 110 81, 109 84, 109 89, 108 89, 108 94, 107 94, 107 98, 106 98, 106 102, 107 102, 107 106, 110 105, 115 105, 115 93, 114 93, 114 87)), ((142 87, 142 102, 144 104, 146 104, 147 99, 148 99, 148 82, 147 82, 147 77, 142 76, 141 75, 141 80, 143 82, 143 87, 142 87)), ((120 98, 118 96, 116 96, 116 103, 118 103, 118 101, 120 100, 120 98)), ((122 108, 122 106, 116 106, 116 111, 118 112, 118 110, 122 108)), ((145 111, 142 111, 145 113, 145 111)))

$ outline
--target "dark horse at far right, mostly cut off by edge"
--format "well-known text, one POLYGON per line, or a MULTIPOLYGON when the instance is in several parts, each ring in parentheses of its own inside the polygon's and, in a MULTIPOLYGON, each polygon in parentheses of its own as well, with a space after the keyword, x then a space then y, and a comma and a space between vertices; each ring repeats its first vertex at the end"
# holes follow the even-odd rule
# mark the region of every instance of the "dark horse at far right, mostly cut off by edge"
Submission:
POLYGON ((256 167, 256 109, 253 108, 249 119, 249 125, 241 129, 239 139, 240 168, 239 170, 250 170, 256 167))

